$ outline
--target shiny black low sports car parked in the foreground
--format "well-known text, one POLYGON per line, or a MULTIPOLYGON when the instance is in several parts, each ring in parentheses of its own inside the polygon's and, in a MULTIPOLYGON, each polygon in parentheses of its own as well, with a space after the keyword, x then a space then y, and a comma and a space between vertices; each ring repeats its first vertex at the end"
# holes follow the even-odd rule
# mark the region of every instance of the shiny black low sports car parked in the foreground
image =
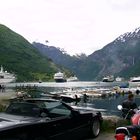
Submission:
POLYGON ((100 112, 78 111, 54 99, 12 101, 0 113, 0 140, 79 140, 97 137, 100 112))

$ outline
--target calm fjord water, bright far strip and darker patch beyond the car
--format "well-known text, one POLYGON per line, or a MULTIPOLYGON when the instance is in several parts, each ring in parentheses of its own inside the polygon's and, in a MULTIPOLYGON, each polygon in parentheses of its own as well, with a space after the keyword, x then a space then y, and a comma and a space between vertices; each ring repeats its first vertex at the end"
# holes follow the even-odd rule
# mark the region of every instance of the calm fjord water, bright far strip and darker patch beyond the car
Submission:
MULTIPOLYGON (((8 84, 8 88, 12 88, 15 86, 37 86, 41 88, 43 91, 49 92, 61 92, 66 88, 74 88, 74 89, 112 89, 114 86, 126 86, 127 83, 122 82, 113 82, 113 83, 105 83, 105 82, 65 82, 65 83, 55 83, 55 82, 45 82, 45 83, 11 83, 8 84)), ((87 102, 72 102, 71 105, 76 105, 78 107, 86 107, 92 108, 93 110, 101 111, 105 115, 120 115, 120 111, 117 110, 117 105, 121 104, 123 100, 127 98, 127 95, 124 96, 112 96, 108 98, 88 98, 87 102)), ((140 105, 140 95, 135 96, 135 101, 137 105, 140 105)))

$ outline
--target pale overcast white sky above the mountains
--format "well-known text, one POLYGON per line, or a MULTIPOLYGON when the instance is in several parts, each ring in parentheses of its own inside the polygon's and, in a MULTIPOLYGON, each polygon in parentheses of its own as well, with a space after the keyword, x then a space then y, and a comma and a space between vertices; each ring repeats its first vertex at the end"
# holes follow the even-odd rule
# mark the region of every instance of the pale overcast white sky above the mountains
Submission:
POLYGON ((139 18, 140 0, 0 0, 0 24, 70 55, 103 48, 139 18))

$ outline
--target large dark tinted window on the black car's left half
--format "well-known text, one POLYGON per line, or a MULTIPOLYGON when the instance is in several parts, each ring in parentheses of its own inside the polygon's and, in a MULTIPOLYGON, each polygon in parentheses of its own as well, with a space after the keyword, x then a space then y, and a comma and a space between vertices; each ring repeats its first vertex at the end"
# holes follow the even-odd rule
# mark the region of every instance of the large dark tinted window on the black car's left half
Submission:
POLYGON ((37 117, 40 108, 32 103, 11 103, 5 112, 13 115, 37 117))

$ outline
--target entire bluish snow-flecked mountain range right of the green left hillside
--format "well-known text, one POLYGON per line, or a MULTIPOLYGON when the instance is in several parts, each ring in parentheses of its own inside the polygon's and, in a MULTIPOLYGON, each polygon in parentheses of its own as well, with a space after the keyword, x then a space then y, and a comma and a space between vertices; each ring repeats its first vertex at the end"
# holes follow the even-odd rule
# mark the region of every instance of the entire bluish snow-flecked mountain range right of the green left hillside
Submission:
POLYGON ((140 75, 140 28, 120 35, 91 55, 70 56, 60 48, 33 43, 44 56, 69 68, 80 80, 101 80, 106 75, 140 75))

